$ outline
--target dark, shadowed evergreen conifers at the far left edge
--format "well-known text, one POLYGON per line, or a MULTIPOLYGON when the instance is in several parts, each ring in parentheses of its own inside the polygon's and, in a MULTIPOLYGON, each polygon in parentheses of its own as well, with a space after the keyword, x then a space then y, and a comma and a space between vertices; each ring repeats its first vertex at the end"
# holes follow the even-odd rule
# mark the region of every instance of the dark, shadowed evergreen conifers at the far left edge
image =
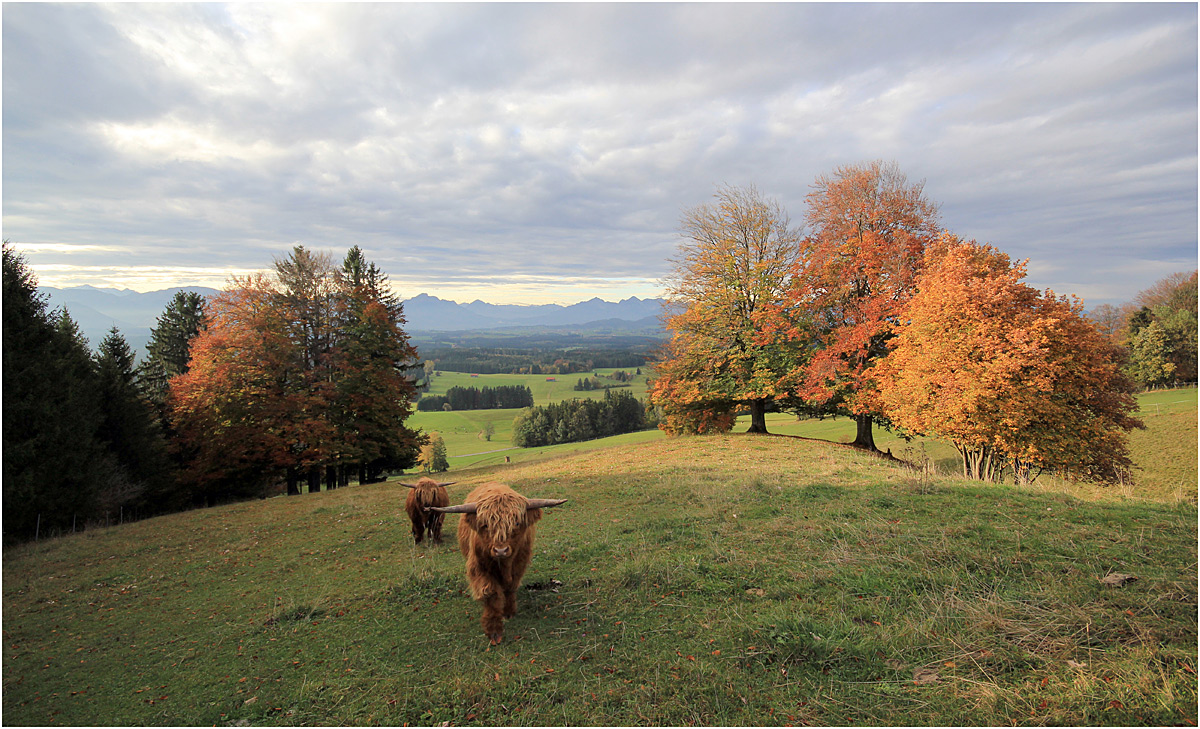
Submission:
POLYGON ((176 499, 167 441, 115 329, 95 355, 4 242, 4 541, 118 522, 176 499))

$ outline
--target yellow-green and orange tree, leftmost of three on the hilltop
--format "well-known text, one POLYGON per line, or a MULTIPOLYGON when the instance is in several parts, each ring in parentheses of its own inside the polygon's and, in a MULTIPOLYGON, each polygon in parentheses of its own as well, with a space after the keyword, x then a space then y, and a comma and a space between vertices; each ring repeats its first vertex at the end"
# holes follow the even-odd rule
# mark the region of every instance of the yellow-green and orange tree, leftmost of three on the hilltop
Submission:
POLYGON ((685 212, 684 242, 666 279, 671 342, 655 363, 650 399, 671 434, 727 430, 734 409, 766 433, 769 403, 804 343, 769 337, 761 323, 800 261, 800 233, 784 207, 751 187, 720 187, 715 204, 685 212))

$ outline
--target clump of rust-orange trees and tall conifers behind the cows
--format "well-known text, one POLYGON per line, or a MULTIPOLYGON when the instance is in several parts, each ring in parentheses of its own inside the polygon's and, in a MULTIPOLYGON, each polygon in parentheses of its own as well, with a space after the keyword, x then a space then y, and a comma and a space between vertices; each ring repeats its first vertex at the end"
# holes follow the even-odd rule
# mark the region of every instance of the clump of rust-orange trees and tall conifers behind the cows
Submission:
POLYGON ((205 499, 360 482, 415 463, 404 426, 416 351, 386 276, 296 246, 274 276, 234 278, 208 305, 188 369, 169 381, 182 478, 205 499))

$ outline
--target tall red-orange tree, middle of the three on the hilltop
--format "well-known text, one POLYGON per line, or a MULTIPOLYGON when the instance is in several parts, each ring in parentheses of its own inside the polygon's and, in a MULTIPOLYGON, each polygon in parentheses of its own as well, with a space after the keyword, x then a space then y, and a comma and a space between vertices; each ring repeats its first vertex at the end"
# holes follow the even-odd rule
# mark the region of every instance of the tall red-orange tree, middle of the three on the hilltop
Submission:
MULTIPOLYGON (((784 311, 811 312, 815 354, 798 394, 851 415, 854 445, 875 448, 872 365, 888 354, 892 330, 916 291, 925 246, 937 234, 937 205, 924 182, 895 163, 870 162, 821 175, 808 195, 809 252, 799 261, 784 311)), ((778 329, 778 325, 775 325, 778 329)))

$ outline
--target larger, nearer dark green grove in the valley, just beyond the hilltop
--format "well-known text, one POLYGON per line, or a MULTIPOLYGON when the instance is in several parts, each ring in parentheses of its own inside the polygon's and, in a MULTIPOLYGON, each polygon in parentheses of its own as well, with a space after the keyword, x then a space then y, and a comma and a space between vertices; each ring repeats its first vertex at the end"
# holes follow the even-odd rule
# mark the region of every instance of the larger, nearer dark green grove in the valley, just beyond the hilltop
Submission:
POLYGON ((578 442, 653 428, 647 406, 630 392, 610 390, 604 399, 572 399, 530 408, 512 421, 512 445, 523 448, 578 442))

